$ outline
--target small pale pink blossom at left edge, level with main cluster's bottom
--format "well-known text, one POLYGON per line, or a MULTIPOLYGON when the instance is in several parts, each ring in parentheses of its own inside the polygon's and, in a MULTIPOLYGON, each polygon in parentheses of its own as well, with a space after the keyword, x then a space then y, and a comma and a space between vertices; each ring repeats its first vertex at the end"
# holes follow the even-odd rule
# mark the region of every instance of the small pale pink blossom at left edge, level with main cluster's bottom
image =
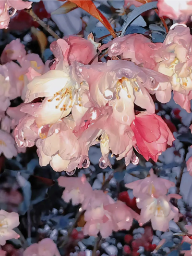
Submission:
POLYGON ((0 130, 0 154, 2 153, 6 158, 12 158, 17 155, 17 150, 12 135, 0 130))

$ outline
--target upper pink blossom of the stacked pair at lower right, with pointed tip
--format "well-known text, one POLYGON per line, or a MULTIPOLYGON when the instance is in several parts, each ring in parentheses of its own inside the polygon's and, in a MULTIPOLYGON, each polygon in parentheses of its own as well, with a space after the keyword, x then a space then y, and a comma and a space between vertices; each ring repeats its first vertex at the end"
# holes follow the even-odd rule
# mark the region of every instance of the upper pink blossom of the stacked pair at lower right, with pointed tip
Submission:
MULTIPOLYGON (((133 189, 133 195, 137 199, 143 199, 146 196, 157 198, 168 193, 170 187, 175 187, 175 183, 167 179, 159 178, 154 174, 153 169, 149 171, 150 176, 145 179, 133 181, 125 184, 128 189, 133 189)), ((138 201, 138 200, 137 200, 138 201)))

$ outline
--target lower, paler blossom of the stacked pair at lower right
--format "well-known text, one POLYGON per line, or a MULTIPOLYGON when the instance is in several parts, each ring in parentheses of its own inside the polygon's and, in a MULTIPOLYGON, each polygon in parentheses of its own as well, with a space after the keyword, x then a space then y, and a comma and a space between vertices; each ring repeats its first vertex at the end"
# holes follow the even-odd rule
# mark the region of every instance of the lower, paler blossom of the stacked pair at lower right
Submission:
POLYGON ((179 210, 169 202, 170 198, 180 199, 181 196, 169 194, 157 198, 148 196, 144 200, 138 200, 137 207, 141 209, 140 225, 144 225, 144 223, 151 220, 153 229, 165 232, 171 219, 178 222, 179 210))

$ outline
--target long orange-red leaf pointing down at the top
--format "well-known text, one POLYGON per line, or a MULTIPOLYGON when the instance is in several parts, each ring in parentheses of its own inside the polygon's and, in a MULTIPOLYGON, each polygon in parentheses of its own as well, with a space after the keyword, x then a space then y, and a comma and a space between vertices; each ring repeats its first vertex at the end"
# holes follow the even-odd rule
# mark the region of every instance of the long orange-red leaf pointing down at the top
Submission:
MULTIPOLYGON (((61 0, 59 0, 61 1, 61 0)), ((62 0, 63 1, 63 0, 62 0)), ((75 3, 77 6, 82 8, 87 13, 91 14, 93 17, 95 17, 97 20, 99 20, 111 33, 113 38, 117 37, 115 34, 115 31, 111 27, 110 23, 106 19, 106 17, 96 9, 95 4, 92 2, 92 0, 69 0, 70 2, 75 3)))

